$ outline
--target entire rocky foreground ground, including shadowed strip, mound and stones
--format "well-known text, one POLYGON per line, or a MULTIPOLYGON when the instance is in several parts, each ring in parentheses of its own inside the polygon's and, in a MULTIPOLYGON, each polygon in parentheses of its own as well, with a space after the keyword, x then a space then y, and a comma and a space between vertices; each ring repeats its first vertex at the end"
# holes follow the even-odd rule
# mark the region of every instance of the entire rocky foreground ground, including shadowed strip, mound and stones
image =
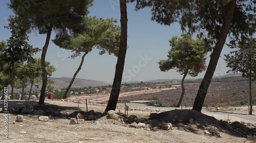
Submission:
MULTIPOLYGON (((129 111, 129 115, 135 116, 127 117, 123 115, 122 107, 117 112, 105 115, 101 114, 104 104, 90 103, 87 112, 84 104, 80 104, 78 110, 75 102, 46 103, 46 106, 34 106, 37 102, 29 101, 24 108, 24 101, 10 101, 9 110, 22 113, 23 117, 17 118, 16 114, 9 114, 9 139, 4 141, 256 142, 255 124, 218 121, 191 110, 162 112, 138 109, 129 111), (30 110, 32 107, 33 111, 30 110), (28 112, 30 113, 27 114, 28 112)), ((5 117, 4 113, 1 115, 0 129, 3 130, 1 136, 4 137, 5 117)))

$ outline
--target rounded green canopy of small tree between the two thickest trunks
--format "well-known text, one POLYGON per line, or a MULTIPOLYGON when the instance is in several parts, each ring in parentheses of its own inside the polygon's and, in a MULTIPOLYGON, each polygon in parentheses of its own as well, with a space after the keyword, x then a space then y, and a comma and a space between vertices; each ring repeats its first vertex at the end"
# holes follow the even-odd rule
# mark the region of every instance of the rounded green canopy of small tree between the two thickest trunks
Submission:
POLYGON ((161 71, 176 69, 180 74, 197 76, 206 69, 206 54, 210 48, 202 39, 194 40, 190 35, 182 34, 169 40, 168 59, 158 62, 161 71))

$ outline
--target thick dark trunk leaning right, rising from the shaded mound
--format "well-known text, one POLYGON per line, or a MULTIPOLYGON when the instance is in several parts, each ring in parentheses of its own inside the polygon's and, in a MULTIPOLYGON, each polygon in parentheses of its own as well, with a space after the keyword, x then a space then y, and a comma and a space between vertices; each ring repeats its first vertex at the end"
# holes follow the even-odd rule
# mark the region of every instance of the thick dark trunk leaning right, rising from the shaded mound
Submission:
POLYGON ((225 44, 227 35, 229 33, 232 17, 234 14, 234 8, 236 7, 236 0, 231 0, 229 4, 227 4, 227 7, 228 8, 227 13, 225 14, 224 23, 222 25, 218 41, 214 47, 214 50, 212 51, 210 62, 204 75, 203 81, 200 84, 197 97, 193 105, 193 110, 197 110, 200 112, 202 110, 204 99, 207 94, 212 76, 214 76, 214 72, 218 64, 222 48, 225 44))

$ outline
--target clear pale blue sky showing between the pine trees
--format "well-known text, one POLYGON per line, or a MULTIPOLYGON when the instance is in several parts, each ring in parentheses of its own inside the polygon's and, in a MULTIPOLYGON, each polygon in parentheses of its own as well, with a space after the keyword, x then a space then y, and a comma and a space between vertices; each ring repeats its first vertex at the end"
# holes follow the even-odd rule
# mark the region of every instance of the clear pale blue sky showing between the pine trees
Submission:
MULTIPOLYGON (((100 1, 95 0, 94 6, 91 7, 90 16, 97 16, 103 18, 114 17, 120 19, 119 0, 100 1)), ((9 0, 0 1, 0 40, 7 40, 10 37, 10 32, 6 28, 7 18, 12 14, 8 9, 7 3, 9 0)), ((172 24, 170 26, 160 25, 155 21, 151 21, 151 11, 148 8, 134 11, 135 4, 127 5, 128 13, 128 41, 129 49, 127 49, 123 81, 146 81, 153 79, 171 79, 182 78, 182 75, 175 70, 168 72, 161 72, 158 68, 157 62, 167 58, 166 54, 170 49, 168 40, 172 36, 180 36, 182 33, 179 24, 172 24)), ((118 23, 120 24, 120 23, 118 23)), ((29 35, 29 43, 34 47, 42 48, 44 46, 46 35, 39 35, 32 33, 29 35)), ((52 33, 52 39, 55 34, 52 33)), ((113 82, 115 65, 117 58, 114 55, 99 55, 98 50, 95 49, 89 53, 82 66, 82 69, 77 75, 77 78, 92 79, 113 82)), ((222 51, 223 54, 229 53, 229 49, 225 46, 222 51)), ((52 77, 73 77, 77 70, 81 56, 76 59, 69 59, 68 56, 72 53, 54 45, 52 42, 49 45, 46 61, 51 62, 56 67, 56 72, 52 77)), ((39 58, 41 52, 37 53, 35 57, 39 58)), ((207 65, 208 65, 207 60, 207 65)), ((227 68, 222 58, 220 58, 215 75, 226 74, 227 68)), ((205 72, 200 73, 197 77, 187 78, 202 78, 205 72)))

